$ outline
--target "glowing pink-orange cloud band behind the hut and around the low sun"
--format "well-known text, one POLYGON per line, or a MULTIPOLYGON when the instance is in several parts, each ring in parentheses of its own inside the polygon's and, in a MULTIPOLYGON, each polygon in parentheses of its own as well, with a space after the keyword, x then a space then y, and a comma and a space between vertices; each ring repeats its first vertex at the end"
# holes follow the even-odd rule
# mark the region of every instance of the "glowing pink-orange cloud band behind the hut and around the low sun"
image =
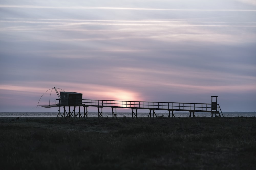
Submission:
MULTIPOLYGON (((37 82, 38 83, 38 82, 37 82)), ((38 100, 41 95, 42 100, 40 100, 40 103, 47 104, 49 102, 49 97, 51 95, 51 103, 55 101, 57 97, 55 91, 49 90, 47 88, 41 87, 35 87, 34 83, 31 83, 31 85, 24 84, 21 86, 16 85, 0 85, 0 91, 2 95, 8 95, 12 93, 21 94, 21 95, 33 95, 35 97, 38 97, 38 100), (49 91, 47 91, 49 90, 49 91), (47 92, 47 93, 45 93, 47 92), (44 94, 45 93, 45 94, 44 94), (50 94, 52 93, 52 94, 50 94)), ((60 85, 60 82, 42 82, 44 84, 43 86, 46 87, 48 84, 48 88, 52 84, 56 84, 61 86, 61 89, 64 91, 75 91, 78 93, 83 93, 84 98, 83 99, 100 99, 100 100, 123 100, 123 101, 141 101, 143 100, 140 93, 128 90, 125 88, 120 87, 113 87, 113 86, 106 86, 106 85, 99 85, 99 84, 79 84, 79 83, 65 83, 65 85, 60 85), (70 89, 70 87, 75 87, 74 89, 70 89), (86 88, 85 88, 86 87, 86 88), (69 89, 68 89, 69 88, 69 89)), ((56 87, 58 88, 58 87, 56 87)), ((61 91, 58 89, 58 91, 61 91)), ((26 102, 26 101, 22 101, 26 102)))

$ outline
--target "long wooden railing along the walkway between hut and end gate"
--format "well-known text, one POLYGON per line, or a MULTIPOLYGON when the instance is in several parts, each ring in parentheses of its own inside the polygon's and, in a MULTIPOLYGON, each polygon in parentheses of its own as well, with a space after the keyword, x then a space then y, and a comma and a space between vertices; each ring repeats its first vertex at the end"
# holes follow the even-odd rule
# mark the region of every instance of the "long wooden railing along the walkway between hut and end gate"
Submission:
MULTIPOLYGON (((82 100, 83 106, 149 109, 149 110, 173 110, 211 112, 211 103, 177 103, 177 102, 148 102, 148 101, 121 101, 121 100, 82 100)), ((219 110, 219 105, 217 106, 219 110)))

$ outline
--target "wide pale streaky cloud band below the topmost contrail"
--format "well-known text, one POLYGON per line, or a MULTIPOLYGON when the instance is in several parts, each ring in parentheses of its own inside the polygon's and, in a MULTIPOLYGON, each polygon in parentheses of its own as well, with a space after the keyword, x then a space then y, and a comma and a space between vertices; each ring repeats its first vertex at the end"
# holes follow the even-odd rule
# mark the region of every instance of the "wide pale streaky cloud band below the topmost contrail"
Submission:
MULTIPOLYGON (((46 42, 80 42, 80 41, 113 41, 113 40, 133 40, 133 39, 151 39, 164 42, 177 41, 209 41, 221 43, 239 43, 243 41, 253 42, 255 40, 255 33, 249 31, 241 35, 240 27, 250 29, 256 27, 247 22, 228 23, 220 22, 212 24, 212 22, 202 22, 203 24, 194 24, 195 22, 185 21, 76 21, 76 20, 47 20, 46 19, 6 19, 2 22, 24 23, 23 26, 1 28, 3 32, 27 32, 25 38, 16 39, 15 41, 46 41, 46 42), (63 22, 65 21, 65 22, 63 22), (141 22, 141 23, 140 23, 141 22), (159 24, 159 23, 165 24, 159 24), (33 24, 39 25, 33 25, 33 24), (150 24, 145 24, 150 23, 150 24), (84 25, 101 25, 100 29, 85 29, 84 25), (107 29, 105 25, 109 26, 107 29), (147 27, 145 27, 147 26, 147 27), (204 28, 212 27, 212 28, 204 28), (233 32, 237 34, 230 34, 230 30, 224 32, 223 30, 216 30, 215 27, 230 27, 233 32), (172 28, 172 29, 170 29, 172 28), (189 29, 188 29, 189 28, 189 29), (36 36, 31 34, 37 34, 36 36), (52 32, 52 34, 49 34, 52 32), (63 36, 63 33, 67 32, 63 36), (79 34, 80 33, 80 34, 79 34), (54 36, 52 36, 54 35, 54 36), (60 35, 60 36, 59 36, 60 35), (50 36, 50 37, 49 37, 50 36)), ((197 23, 197 22, 196 22, 197 23)), ((8 34, 7 34, 8 35, 8 34)), ((25 35, 25 34, 24 34, 25 35)), ((6 36, 6 35, 5 35, 6 36)), ((7 40, 7 38, 6 38, 7 40)), ((11 40, 11 39, 10 39, 11 40)), ((97 42, 95 42, 97 43, 97 42)))

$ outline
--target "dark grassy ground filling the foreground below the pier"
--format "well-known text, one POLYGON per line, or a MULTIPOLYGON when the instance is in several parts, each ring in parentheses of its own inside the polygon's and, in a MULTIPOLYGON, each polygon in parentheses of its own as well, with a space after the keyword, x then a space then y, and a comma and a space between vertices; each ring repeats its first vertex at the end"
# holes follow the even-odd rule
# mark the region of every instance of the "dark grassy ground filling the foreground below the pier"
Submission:
POLYGON ((0 117, 1 169, 255 169, 256 118, 0 117))

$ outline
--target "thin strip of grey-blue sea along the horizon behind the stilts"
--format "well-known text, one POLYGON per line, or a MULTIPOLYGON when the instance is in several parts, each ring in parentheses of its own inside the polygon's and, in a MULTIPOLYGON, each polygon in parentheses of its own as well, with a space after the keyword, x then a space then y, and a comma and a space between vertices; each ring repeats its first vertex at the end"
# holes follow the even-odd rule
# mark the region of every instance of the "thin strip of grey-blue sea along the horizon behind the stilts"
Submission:
MULTIPOLYGON (((77 113, 76 113, 77 114, 77 113)), ((148 113, 137 113, 137 117, 147 117, 148 113)), ((168 117, 168 112, 156 113, 157 116, 168 117)), ((57 112, 0 112, 0 117, 56 117, 58 115, 57 112)), ((83 116, 83 112, 81 112, 83 116)), ((112 117, 111 112, 102 113, 103 117, 112 117)), ((117 117, 132 117, 132 113, 129 112, 117 112, 117 117)), ((175 117, 189 117, 188 112, 174 112, 175 117)), ((170 113, 172 117, 172 112, 170 113)), ((191 113, 191 116, 193 114, 191 113)), ((204 112, 196 112, 196 117, 211 117, 211 113, 204 112)), ((215 117, 215 115, 213 115, 215 117)), ((221 115, 222 116, 222 115, 221 115)), ((223 112, 223 116, 225 117, 255 117, 256 112, 223 112)), ((88 112, 88 117, 98 117, 98 112, 88 112)), ((151 117, 153 117, 153 113, 151 113, 151 117)))

